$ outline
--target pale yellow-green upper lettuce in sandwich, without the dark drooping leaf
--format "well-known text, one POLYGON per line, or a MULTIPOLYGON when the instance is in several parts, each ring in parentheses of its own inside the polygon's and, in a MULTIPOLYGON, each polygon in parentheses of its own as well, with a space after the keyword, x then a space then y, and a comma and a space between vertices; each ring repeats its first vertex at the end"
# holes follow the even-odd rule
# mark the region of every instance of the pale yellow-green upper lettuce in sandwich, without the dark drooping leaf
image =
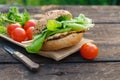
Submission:
POLYGON ((83 14, 80 14, 78 17, 74 19, 66 20, 66 21, 56 21, 56 20, 48 20, 47 29, 50 31, 56 31, 58 28, 71 28, 71 30, 85 30, 93 27, 92 20, 85 17, 83 14))

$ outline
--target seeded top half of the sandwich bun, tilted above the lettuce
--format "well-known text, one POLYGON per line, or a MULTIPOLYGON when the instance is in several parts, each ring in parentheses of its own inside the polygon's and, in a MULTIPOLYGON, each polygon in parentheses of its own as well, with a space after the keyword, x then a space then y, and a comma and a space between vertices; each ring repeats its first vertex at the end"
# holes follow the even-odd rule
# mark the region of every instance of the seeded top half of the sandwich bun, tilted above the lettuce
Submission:
POLYGON ((72 18, 72 14, 67 10, 51 10, 46 12, 45 14, 42 15, 42 18, 38 20, 34 29, 34 34, 38 34, 44 28, 46 28, 46 24, 48 20, 59 19, 62 16, 67 18, 72 18))

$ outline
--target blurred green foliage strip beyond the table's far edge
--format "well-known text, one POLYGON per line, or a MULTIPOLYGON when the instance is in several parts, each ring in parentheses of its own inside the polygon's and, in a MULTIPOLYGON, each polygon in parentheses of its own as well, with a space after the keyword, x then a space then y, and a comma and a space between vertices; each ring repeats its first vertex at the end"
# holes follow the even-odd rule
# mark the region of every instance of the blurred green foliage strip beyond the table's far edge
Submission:
POLYGON ((0 5, 120 5, 120 0, 0 0, 0 5))

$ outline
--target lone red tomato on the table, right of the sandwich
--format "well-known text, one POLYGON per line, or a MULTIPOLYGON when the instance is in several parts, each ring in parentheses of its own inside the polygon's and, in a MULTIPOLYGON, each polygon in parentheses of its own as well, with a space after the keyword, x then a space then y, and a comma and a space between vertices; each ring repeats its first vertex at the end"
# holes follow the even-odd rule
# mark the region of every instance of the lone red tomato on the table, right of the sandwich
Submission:
POLYGON ((88 60, 93 60, 98 55, 98 47, 93 43, 85 43, 80 48, 81 56, 88 60))

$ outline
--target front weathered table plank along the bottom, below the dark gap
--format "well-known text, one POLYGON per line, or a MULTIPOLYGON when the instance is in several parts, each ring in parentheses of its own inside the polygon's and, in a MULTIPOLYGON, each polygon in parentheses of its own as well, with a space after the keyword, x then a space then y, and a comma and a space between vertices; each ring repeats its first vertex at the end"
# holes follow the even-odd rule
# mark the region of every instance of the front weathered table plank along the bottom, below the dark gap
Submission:
POLYGON ((0 65, 1 80, 119 80, 119 63, 46 64, 32 73, 22 64, 0 65))

